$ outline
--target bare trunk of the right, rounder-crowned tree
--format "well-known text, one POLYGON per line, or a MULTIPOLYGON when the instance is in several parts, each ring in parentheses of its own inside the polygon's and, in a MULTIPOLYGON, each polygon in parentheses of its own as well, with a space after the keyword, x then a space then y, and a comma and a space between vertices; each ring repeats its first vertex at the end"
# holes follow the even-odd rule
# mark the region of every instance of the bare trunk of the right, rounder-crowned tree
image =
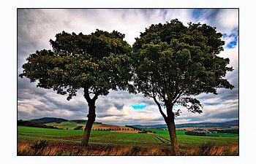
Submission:
POLYGON ((173 113, 172 105, 167 106, 167 117, 165 119, 165 122, 167 124, 167 128, 169 131, 170 143, 172 146, 173 155, 179 155, 178 154, 178 140, 177 140, 177 136, 176 136, 176 128, 175 128, 174 113, 173 113))

